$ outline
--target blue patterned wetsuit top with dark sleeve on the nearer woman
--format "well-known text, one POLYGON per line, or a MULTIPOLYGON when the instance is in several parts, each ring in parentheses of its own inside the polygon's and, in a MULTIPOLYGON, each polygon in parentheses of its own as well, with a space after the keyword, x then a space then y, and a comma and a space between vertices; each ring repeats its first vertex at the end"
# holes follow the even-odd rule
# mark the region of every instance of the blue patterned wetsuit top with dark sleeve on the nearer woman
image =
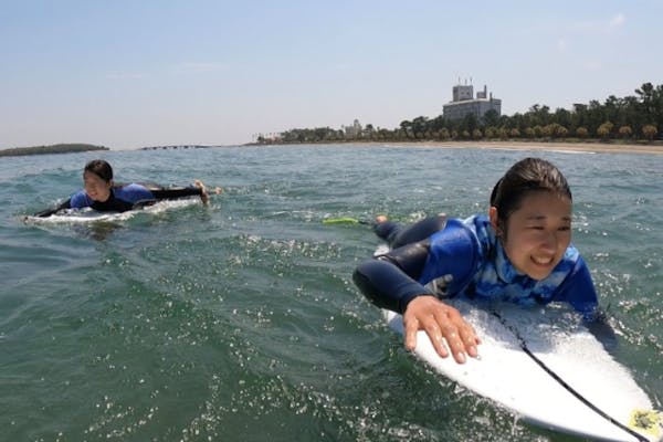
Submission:
POLYGON ((550 275, 534 280, 509 262, 486 215, 448 220, 428 239, 360 264, 354 280, 373 304, 398 313, 415 296, 442 292, 522 305, 567 302, 586 319, 598 306, 589 269, 576 248, 569 245, 550 275))

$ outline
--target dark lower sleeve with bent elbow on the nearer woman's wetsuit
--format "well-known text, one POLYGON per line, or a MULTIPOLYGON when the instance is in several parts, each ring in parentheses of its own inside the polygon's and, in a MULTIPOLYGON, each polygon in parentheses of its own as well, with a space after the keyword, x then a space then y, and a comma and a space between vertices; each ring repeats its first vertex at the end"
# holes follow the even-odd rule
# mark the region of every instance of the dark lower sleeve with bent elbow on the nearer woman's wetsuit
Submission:
POLYGON ((417 281, 428 253, 428 240, 403 245, 359 264, 352 280, 371 303, 402 314, 414 297, 433 295, 417 281))

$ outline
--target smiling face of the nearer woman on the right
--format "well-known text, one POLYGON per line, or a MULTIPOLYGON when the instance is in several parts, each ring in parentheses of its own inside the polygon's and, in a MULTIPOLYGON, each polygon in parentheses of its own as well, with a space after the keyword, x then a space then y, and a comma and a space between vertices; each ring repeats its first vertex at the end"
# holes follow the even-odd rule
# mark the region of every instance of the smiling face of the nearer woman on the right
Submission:
MULTIPOLYGON (((497 232, 497 209, 491 208, 497 232)), ((547 277, 571 242, 571 200, 548 191, 526 196, 506 222, 504 251, 520 273, 534 280, 547 277)))

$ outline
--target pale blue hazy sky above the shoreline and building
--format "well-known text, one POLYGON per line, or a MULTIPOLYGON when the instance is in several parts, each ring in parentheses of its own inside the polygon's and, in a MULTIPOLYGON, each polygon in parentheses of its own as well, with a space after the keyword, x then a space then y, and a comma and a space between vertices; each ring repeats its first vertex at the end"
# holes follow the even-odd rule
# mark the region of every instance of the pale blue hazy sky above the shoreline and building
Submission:
POLYGON ((0 149, 239 145, 663 83, 660 0, 0 0, 0 149))

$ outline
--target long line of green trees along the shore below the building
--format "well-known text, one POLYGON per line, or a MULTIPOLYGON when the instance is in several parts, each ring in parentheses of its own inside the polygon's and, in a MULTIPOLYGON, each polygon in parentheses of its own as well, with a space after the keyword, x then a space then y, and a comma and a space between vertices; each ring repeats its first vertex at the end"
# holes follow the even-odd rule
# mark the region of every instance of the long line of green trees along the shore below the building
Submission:
POLYGON ((617 140, 652 143, 663 129, 663 85, 644 83, 635 95, 618 98, 610 95, 603 103, 592 99, 575 104, 572 109, 535 104, 526 113, 512 116, 488 110, 483 118, 467 114, 449 120, 419 116, 403 120, 393 129, 372 124, 348 128, 330 127, 291 129, 269 136, 259 135, 259 144, 415 141, 415 140, 617 140))

